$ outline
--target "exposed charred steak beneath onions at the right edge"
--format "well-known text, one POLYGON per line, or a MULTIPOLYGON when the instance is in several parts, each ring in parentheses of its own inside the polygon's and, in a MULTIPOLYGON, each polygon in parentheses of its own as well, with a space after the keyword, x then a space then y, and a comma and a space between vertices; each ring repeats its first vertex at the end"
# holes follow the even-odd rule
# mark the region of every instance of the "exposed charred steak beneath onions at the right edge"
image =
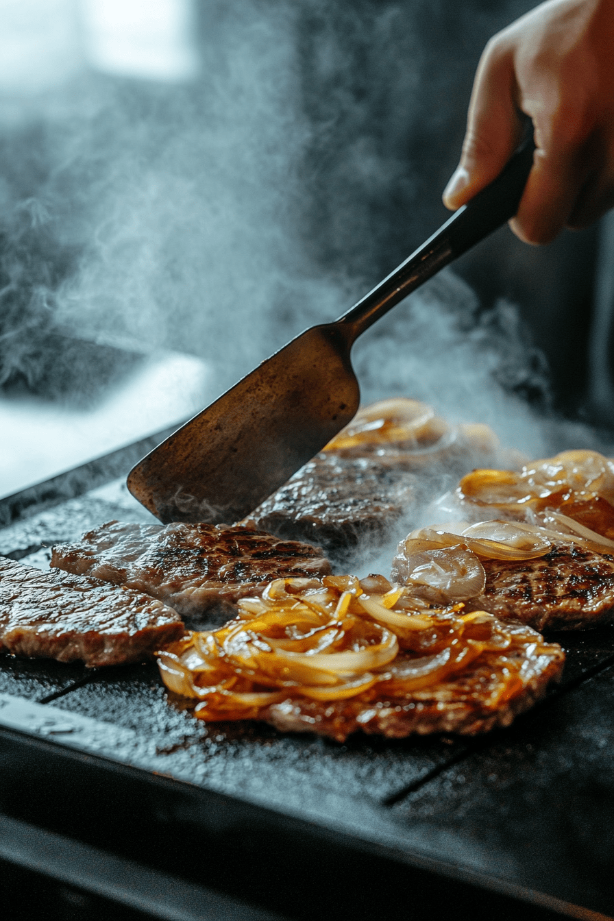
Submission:
POLYGON ((545 556, 515 562, 482 560, 483 595, 468 609, 513 617, 536 630, 573 630, 614 615, 614 555, 554 544, 545 556))

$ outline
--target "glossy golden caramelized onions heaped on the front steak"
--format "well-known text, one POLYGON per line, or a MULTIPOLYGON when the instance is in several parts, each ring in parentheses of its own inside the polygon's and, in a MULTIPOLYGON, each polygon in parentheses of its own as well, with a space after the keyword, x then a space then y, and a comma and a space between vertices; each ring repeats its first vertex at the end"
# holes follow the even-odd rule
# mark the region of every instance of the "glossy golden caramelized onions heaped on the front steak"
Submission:
POLYGON ((276 579, 262 598, 240 600, 235 620, 186 636, 158 664, 168 689, 196 699, 205 720, 257 718, 296 697, 408 700, 484 657, 497 691, 481 705, 498 705, 524 687, 519 647, 532 654, 543 642, 530 627, 462 607, 434 610, 381 576, 276 579))

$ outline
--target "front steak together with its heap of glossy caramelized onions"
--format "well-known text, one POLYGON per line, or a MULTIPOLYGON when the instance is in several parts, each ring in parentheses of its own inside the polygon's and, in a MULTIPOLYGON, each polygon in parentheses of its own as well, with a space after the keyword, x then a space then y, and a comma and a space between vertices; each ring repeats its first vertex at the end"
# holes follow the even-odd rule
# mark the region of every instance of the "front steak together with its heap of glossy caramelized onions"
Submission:
POLYGON ((237 607, 158 656, 168 690, 207 722, 264 719, 339 741, 356 729, 473 735, 511 723, 564 660, 525 624, 430 608, 382 576, 289 579, 237 607))

